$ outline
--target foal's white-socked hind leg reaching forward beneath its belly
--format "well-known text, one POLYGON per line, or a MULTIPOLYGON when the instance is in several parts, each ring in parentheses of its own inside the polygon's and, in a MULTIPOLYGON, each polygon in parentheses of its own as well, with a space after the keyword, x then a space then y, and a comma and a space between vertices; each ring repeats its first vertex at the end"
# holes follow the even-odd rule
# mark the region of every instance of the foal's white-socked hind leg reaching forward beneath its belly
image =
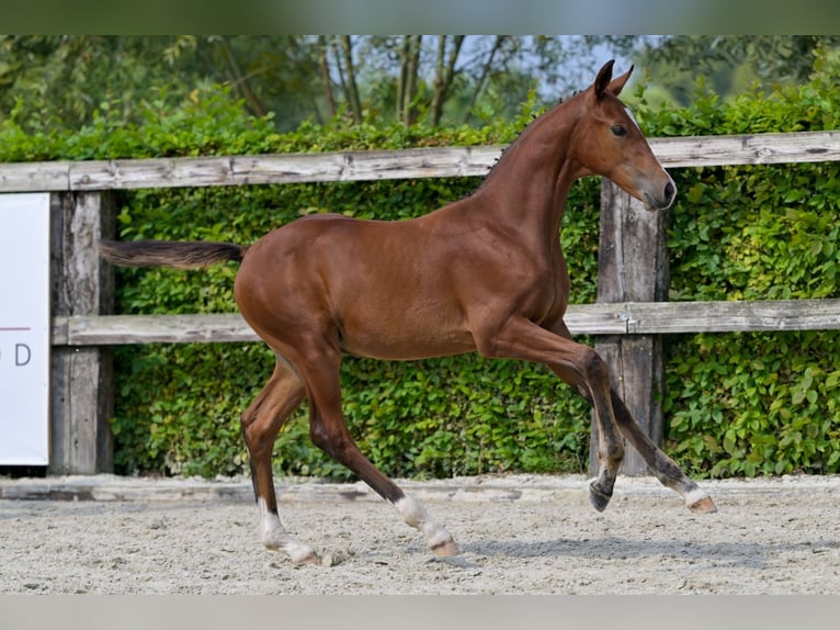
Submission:
POLYGON ((418 500, 379 472, 353 441, 341 410, 339 362, 339 352, 328 347, 310 352, 307 360, 299 363, 307 365, 304 378, 308 389, 309 431, 313 443, 353 471, 389 502, 408 525, 422 531, 429 549, 435 554, 456 555, 458 550, 452 536, 418 500))

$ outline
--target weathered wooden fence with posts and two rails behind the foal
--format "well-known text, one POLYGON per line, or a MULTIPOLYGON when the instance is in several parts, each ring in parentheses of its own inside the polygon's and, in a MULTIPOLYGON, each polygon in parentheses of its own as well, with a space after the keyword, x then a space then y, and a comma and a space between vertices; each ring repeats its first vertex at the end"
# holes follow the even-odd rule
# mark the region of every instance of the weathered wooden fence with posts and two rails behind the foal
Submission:
MULTIPOLYGON (((650 145, 667 168, 840 160, 840 132, 652 138, 650 145)), ((112 469, 111 346, 258 339, 237 314, 110 314, 113 270, 98 258, 95 243, 115 229, 112 191, 484 176, 501 148, 0 165, 0 192, 49 192, 53 200, 49 472, 112 469)), ((644 211, 604 181, 598 303, 571 306, 566 318, 572 334, 598 336, 595 347, 610 364, 615 386, 660 443, 662 414, 656 394, 663 382, 662 335, 840 329, 840 300, 666 302, 663 221, 663 214, 644 211)), ((646 473, 633 449, 622 470, 646 473)))

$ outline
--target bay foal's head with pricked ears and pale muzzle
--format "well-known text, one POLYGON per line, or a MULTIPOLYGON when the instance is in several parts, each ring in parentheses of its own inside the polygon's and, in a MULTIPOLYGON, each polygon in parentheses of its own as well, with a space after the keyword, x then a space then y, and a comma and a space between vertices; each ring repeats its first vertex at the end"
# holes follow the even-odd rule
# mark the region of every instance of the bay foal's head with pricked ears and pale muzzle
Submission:
POLYGON ((613 61, 608 61, 594 83, 580 94, 584 111, 576 124, 571 157, 582 165, 584 175, 610 178, 647 210, 667 210, 677 187, 617 98, 632 71, 633 67, 613 79, 613 61))

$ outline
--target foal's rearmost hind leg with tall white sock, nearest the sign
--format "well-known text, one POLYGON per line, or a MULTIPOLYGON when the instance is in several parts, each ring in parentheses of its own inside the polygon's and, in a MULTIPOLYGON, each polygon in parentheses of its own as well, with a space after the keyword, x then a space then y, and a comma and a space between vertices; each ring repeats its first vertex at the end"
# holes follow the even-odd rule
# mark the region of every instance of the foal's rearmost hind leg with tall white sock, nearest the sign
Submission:
POLYGON ((260 518, 260 539, 269 549, 286 552, 297 563, 318 561, 315 551, 292 538, 277 515, 271 471, 274 440, 283 424, 304 398, 304 385, 286 360, 277 356, 274 373, 241 418, 242 435, 251 460, 251 481, 260 518))

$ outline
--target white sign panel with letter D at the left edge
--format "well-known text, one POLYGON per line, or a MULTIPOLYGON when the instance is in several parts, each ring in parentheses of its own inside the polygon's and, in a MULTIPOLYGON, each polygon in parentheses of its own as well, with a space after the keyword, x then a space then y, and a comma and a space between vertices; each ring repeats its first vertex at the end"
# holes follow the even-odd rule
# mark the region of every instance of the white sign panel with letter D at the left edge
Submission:
POLYGON ((0 465, 49 462, 49 195, 0 194, 0 465))

